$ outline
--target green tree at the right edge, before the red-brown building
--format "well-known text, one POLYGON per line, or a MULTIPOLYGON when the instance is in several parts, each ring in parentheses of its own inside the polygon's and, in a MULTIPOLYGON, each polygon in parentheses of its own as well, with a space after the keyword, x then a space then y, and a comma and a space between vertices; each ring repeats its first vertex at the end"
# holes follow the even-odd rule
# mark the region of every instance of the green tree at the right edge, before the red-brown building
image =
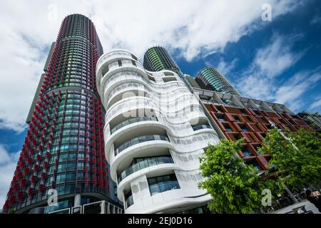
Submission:
POLYGON ((279 172, 285 185, 301 188, 305 183, 315 185, 321 180, 320 133, 300 128, 297 132, 272 129, 263 141, 260 152, 272 156, 270 164, 279 172))

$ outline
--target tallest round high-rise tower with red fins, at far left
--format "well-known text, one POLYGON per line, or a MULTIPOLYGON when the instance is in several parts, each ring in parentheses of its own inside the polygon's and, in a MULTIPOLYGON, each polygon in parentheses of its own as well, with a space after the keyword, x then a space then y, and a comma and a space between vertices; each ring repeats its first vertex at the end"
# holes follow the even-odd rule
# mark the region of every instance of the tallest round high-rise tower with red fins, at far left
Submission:
POLYGON ((112 202, 104 155, 105 110, 96 90, 96 63, 103 49, 86 16, 67 16, 49 53, 27 123, 4 211, 49 212, 101 199, 112 202), (48 206, 49 190, 58 206, 48 206))

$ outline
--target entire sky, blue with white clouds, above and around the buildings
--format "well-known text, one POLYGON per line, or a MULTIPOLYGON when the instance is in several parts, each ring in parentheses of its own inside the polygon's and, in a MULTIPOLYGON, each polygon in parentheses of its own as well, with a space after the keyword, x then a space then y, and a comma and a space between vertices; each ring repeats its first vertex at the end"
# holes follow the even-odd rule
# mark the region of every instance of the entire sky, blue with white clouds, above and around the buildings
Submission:
POLYGON ((183 73, 214 66, 248 98, 321 112, 321 1, 0 1, 0 207, 51 43, 88 16, 104 53, 165 46, 183 73), (268 5, 266 5, 268 4, 268 5), (263 20, 270 6, 271 20, 263 20))

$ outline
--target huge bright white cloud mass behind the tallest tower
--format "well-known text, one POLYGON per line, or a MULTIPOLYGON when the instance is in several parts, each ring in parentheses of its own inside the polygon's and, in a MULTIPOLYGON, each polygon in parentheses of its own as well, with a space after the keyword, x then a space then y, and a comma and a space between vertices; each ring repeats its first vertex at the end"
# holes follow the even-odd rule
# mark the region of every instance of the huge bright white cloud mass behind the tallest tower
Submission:
POLYGON ((22 131, 52 41, 63 17, 89 16, 105 52, 127 48, 142 57, 146 48, 162 45, 188 61, 222 51, 267 23, 287 14, 295 1, 1 1, 0 128, 22 131))

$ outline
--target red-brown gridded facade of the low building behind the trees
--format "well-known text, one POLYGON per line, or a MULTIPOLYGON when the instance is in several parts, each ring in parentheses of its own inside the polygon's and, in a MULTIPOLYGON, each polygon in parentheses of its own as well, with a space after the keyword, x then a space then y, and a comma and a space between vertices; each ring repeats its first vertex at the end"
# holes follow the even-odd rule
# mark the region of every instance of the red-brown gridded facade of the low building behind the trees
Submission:
POLYGON ((245 163, 253 165, 256 170, 267 170, 270 155, 261 155, 258 147, 263 142, 268 129, 272 128, 269 120, 277 128, 296 131, 309 126, 298 115, 276 113, 267 110, 236 108, 228 105, 204 103, 215 123, 229 140, 245 138, 243 149, 239 152, 245 163))

